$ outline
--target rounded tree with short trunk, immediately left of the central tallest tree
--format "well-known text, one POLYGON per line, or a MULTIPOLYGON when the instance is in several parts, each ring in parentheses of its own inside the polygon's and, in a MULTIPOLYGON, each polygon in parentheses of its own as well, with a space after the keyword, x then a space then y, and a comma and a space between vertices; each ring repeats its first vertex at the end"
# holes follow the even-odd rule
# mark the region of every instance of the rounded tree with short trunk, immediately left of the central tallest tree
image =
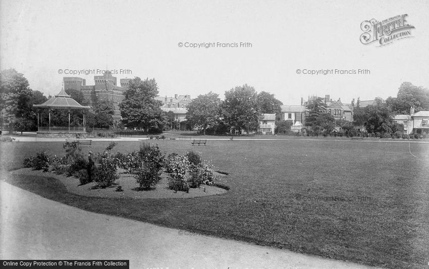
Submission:
POLYGON ((215 127, 220 117, 221 99, 219 95, 209 92, 205 95, 199 95, 188 105, 186 120, 191 122, 193 127, 203 130, 215 127))

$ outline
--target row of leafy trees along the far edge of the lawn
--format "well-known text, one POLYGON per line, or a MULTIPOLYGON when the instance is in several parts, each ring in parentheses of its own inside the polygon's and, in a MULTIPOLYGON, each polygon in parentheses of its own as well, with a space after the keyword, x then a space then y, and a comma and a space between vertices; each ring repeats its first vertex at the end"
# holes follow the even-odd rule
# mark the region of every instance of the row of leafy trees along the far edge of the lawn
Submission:
MULTIPOLYGON (((68 89, 66 91, 81 105, 88 105, 82 92, 68 89)), ((154 78, 141 79, 135 77, 130 81, 124 93, 124 100, 119 109, 121 122, 119 127, 138 128, 147 133, 158 133, 174 128, 178 123, 173 112, 164 112, 162 102, 155 99, 159 90, 154 78)), ((11 129, 35 130, 37 114, 33 104, 41 104, 47 100, 39 91, 29 87, 28 80, 15 69, 0 72, 0 111, 3 123, 8 123, 11 129)), ((114 126, 114 107, 110 101, 93 100, 91 113, 86 113, 86 125, 94 128, 110 128, 114 126)), ((282 119, 282 102, 267 92, 257 93, 255 88, 244 84, 225 92, 224 100, 218 94, 209 92, 199 95, 187 106, 186 122, 192 129, 206 133, 223 134, 255 132, 262 114, 276 114, 277 132, 286 132, 293 124, 282 119)), ((326 104, 322 99, 308 102, 306 106, 306 128, 313 132, 331 132, 335 126, 344 130, 365 127, 370 133, 392 133, 403 129, 393 122, 394 114, 408 114, 410 108, 415 111, 429 110, 429 91, 410 82, 403 82, 399 87, 397 97, 389 97, 386 101, 377 98, 374 104, 365 108, 355 105, 353 122, 338 122, 327 113, 326 104)), ((66 126, 67 111, 52 110, 51 122, 66 126)), ((71 112, 71 125, 82 125, 82 111, 71 112)), ((47 113, 40 115, 40 121, 46 124, 47 113)))

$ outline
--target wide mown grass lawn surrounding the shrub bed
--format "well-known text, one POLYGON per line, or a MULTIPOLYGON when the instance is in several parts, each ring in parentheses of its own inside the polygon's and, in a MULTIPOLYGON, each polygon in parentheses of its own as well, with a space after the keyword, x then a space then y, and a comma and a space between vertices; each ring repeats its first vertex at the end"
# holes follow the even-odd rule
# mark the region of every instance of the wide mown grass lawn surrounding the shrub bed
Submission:
MULTIPOLYGON (((200 151, 229 173, 220 182, 230 190, 192 199, 105 200, 69 194, 53 178, 8 181, 89 211, 301 253, 385 267, 421 268, 429 262, 429 144, 148 142, 167 153, 200 151)), ((94 142, 92 149, 102 151, 108 144, 94 142)), ((114 150, 138 146, 119 142, 114 150)), ((2 168, 20 168, 24 157, 42 149, 64 154, 62 143, 0 143, 2 168)))

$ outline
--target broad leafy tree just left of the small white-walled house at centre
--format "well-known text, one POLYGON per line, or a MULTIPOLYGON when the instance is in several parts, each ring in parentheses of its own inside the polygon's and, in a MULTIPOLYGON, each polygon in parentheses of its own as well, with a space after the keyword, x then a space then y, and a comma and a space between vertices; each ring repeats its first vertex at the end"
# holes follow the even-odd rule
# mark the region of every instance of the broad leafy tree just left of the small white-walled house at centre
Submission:
POLYGON ((225 92, 225 101, 222 103, 224 122, 232 129, 241 133, 255 131, 262 119, 257 93, 252 86, 244 84, 225 92))

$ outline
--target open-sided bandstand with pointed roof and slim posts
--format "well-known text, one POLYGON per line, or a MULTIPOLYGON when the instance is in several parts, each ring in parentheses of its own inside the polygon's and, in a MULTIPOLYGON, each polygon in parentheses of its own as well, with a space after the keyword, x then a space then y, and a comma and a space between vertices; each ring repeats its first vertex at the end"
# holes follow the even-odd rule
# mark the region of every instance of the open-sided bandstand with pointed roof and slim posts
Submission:
MULTIPOLYGON (((34 108, 38 109, 48 109, 49 113, 49 125, 48 127, 40 126, 39 124, 39 113, 40 111, 37 111, 37 135, 38 136, 50 136, 55 135, 56 133, 60 132, 76 132, 76 133, 83 133, 86 132, 85 128, 85 110, 89 109, 89 106, 82 106, 76 100, 71 98, 70 95, 68 95, 64 91, 64 87, 61 89, 61 92, 44 102, 43 104, 39 105, 33 105, 34 108), (67 110, 69 115, 69 126, 51 126, 50 122, 50 112, 52 109, 55 110, 67 110), (70 111, 71 110, 83 110, 83 126, 73 126, 70 128, 70 111)), ((43 113, 43 111, 41 111, 43 113)))

